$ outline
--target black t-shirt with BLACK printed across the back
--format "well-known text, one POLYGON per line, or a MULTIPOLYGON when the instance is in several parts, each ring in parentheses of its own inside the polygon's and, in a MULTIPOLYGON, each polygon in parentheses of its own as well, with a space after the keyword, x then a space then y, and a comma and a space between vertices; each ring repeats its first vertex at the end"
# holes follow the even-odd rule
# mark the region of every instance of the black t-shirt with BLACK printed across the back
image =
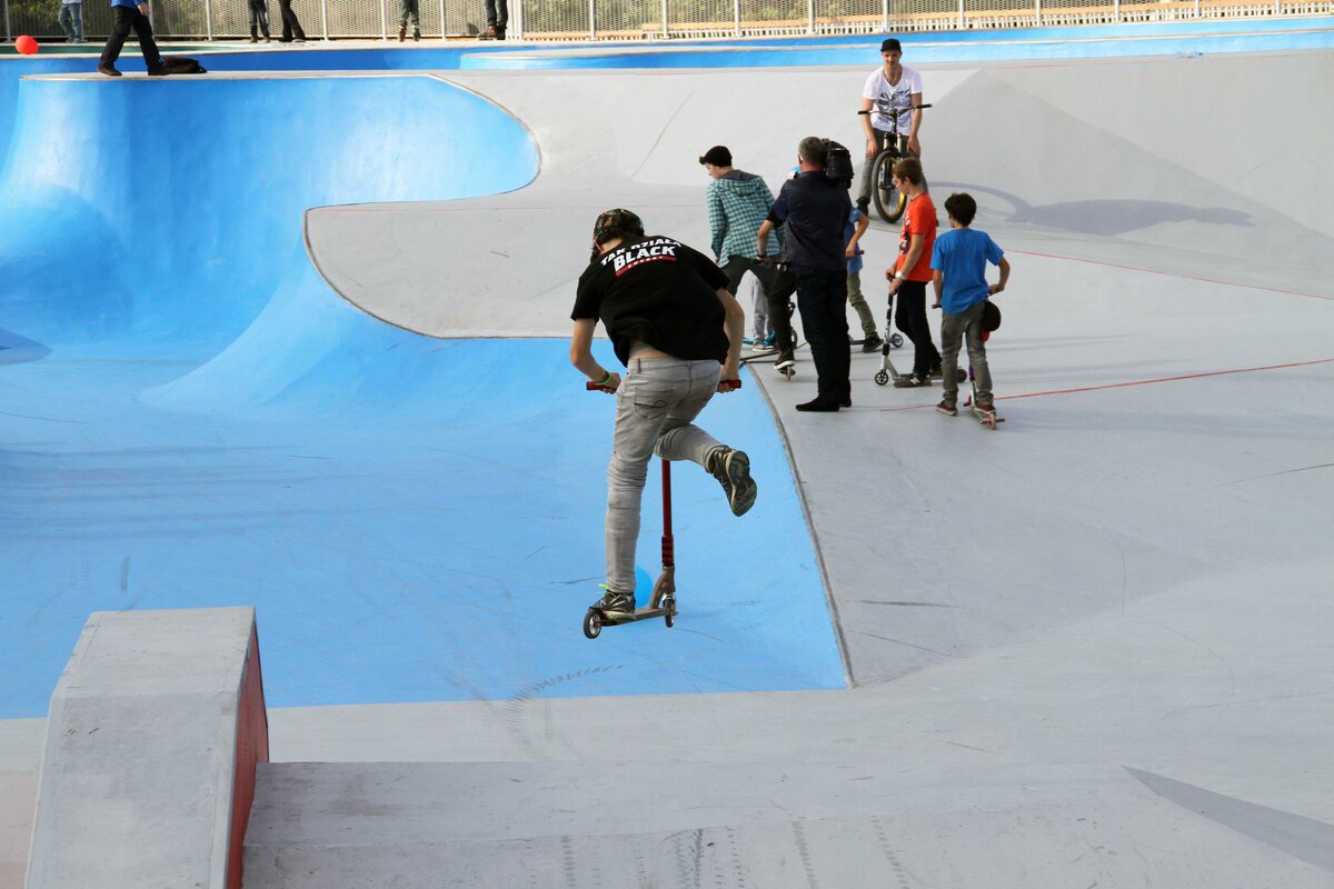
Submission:
POLYGON ((648 236, 588 264, 570 317, 600 319, 622 364, 630 363, 634 340, 687 361, 723 363, 720 289, 727 289, 727 276, 707 256, 678 240, 648 236))

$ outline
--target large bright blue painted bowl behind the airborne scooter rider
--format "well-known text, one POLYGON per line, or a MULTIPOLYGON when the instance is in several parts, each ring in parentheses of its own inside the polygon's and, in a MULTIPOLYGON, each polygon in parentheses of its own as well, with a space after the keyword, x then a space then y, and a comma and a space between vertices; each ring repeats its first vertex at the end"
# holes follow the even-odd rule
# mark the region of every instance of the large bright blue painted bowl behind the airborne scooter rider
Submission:
POLYGON ((762 504, 738 521, 679 468, 676 628, 588 642, 611 400, 564 341, 412 335, 311 267, 308 207, 528 181, 499 109, 424 77, 24 81, 15 132, 0 717, 41 714, 87 613, 123 608, 255 604, 279 706, 842 685, 755 389, 706 425, 762 504))

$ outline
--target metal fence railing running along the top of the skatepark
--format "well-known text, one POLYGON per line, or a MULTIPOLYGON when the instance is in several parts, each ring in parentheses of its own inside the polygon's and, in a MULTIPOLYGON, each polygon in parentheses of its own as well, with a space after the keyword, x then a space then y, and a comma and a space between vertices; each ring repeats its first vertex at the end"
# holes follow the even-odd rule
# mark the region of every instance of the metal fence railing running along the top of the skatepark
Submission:
MULTIPOLYGON (((292 0, 308 39, 390 39, 402 0, 292 0)), ((63 36, 60 0, 0 0, 5 37, 63 36)), ((424 37, 475 37, 484 0, 418 0, 424 37)), ((277 0, 268 0, 277 36, 277 0)), ((1334 0, 510 0, 510 36, 528 40, 663 40, 888 31, 1033 28, 1041 25, 1261 19, 1334 12, 1334 0)), ((83 4, 84 33, 105 39, 105 0, 83 4)), ((153 29, 165 40, 249 36, 247 0, 153 0, 153 29)))

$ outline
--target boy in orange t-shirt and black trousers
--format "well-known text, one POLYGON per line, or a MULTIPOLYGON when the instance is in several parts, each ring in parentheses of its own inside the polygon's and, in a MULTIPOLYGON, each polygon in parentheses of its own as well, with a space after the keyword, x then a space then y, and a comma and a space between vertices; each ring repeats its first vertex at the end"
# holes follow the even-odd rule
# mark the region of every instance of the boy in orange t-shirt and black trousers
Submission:
POLYGON ((940 352, 931 341, 931 328, 926 320, 926 285, 931 281, 931 249, 935 247, 935 204, 923 189, 926 179, 916 157, 904 157, 894 165, 894 179, 907 195, 908 207, 903 213, 903 233, 899 237, 899 256, 894 268, 884 272, 890 279, 890 299, 899 297, 894 311, 894 324, 912 340, 912 373, 900 376, 894 385, 922 387, 931 381, 931 373, 940 367, 940 352))

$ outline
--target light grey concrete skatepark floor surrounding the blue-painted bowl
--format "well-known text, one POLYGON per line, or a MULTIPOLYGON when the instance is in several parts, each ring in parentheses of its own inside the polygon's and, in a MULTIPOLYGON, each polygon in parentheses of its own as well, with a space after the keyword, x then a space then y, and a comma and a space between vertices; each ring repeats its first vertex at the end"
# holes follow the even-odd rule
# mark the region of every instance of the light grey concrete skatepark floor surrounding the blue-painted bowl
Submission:
MULTIPOLYGON (((1293 83, 1329 64, 1245 61, 1293 83)), ((875 885, 1329 885, 1334 251, 1313 200, 1327 177, 1305 149, 1275 156, 1245 133, 1235 155, 1214 151, 1233 93, 1265 99, 1233 67, 928 69, 934 193, 975 193, 1015 265, 990 348, 1006 424, 942 417, 936 389, 875 387, 876 356, 854 356, 856 407, 834 417, 792 411, 814 391, 808 360, 791 384, 754 369, 860 688, 276 710, 288 764, 261 780, 253 872, 796 886, 852 885, 851 865, 875 885), (1138 101, 1089 104, 1117 91, 1138 101), (292 764, 321 760, 343 765, 292 764), (463 812, 440 810, 419 789, 444 774, 503 774, 507 802, 464 794, 463 812), (346 817, 325 814, 335 805, 346 817), (392 852, 359 845, 396 828, 392 852)), ((855 139, 844 100, 860 80, 766 72, 772 113, 738 129, 716 97, 754 95, 744 72, 455 77, 543 144, 543 175, 488 201, 495 228, 476 229, 483 243, 503 227, 570 232, 535 248, 536 269, 531 255, 496 260, 539 296, 507 297, 488 268, 470 285, 514 300, 499 320, 411 299, 474 248, 408 269, 403 233, 450 231, 456 207, 320 211, 312 255, 344 296, 406 327, 551 336, 568 283, 540 269, 582 249, 584 216, 638 207, 703 243, 699 152, 728 144, 776 185, 794 136, 855 139), (571 135, 603 107, 623 123, 608 139, 571 135), (398 243, 350 252, 372 217, 398 243)), ((1317 155, 1334 144, 1301 97, 1269 107, 1317 155)), ((875 269, 895 232, 876 223, 866 244, 875 269)))

